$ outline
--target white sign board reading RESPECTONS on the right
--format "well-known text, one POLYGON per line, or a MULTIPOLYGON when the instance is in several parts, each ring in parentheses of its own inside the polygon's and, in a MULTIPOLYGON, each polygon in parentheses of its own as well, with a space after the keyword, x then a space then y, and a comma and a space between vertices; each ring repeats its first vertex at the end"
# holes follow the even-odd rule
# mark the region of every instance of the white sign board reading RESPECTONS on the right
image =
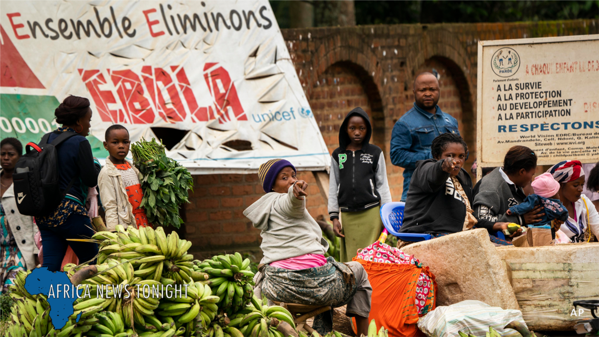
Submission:
POLYGON ((599 35, 479 41, 477 159, 515 145, 539 165, 599 158, 599 35))

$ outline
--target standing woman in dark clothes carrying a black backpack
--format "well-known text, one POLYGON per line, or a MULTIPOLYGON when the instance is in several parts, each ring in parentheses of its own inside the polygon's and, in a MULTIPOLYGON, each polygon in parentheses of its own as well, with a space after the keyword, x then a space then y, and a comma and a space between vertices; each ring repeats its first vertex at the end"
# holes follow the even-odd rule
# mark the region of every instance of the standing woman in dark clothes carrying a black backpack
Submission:
POLYGON ((98 245, 89 242, 67 241, 66 239, 89 239, 93 235, 92 224, 87 216, 85 200, 89 187, 98 185, 101 166, 92 156, 92 147, 85 138, 89 134, 92 109, 89 100, 69 96, 55 110, 56 122, 62 124, 52 131, 48 142, 52 142, 65 131, 76 136, 62 142, 58 152, 60 191, 65 197, 55 211, 47 216, 36 216, 44 248, 44 265, 50 271, 60 270, 66 249, 71 246, 80 263, 94 263, 98 245))

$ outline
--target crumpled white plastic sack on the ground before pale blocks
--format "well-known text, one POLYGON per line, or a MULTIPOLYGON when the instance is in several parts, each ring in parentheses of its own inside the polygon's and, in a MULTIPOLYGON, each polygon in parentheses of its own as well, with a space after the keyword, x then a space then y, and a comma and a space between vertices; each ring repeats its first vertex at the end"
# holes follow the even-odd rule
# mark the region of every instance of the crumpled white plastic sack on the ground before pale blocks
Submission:
POLYGON ((519 321, 526 325, 519 310, 504 310, 477 300, 465 300, 449 306, 438 306, 418 321, 418 328, 429 337, 455 337, 458 330, 485 337, 489 326, 501 337, 519 337, 513 329, 503 329, 508 323, 519 321))

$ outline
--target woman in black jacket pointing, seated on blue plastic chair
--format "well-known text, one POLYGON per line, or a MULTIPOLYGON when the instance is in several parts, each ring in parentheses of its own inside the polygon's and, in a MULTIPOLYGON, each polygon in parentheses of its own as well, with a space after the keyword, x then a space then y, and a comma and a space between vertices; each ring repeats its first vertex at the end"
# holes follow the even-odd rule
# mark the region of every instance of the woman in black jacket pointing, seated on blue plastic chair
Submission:
POLYGON ((434 159, 416 162, 400 232, 438 237, 476 225, 489 230, 492 242, 511 244, 491 235, 492 231, 506 229, 507 222, 488 224, 472 215, 472 180, 462 168, 467 152, 468 146, 458 134, 444 133, 432 141, 434 159))

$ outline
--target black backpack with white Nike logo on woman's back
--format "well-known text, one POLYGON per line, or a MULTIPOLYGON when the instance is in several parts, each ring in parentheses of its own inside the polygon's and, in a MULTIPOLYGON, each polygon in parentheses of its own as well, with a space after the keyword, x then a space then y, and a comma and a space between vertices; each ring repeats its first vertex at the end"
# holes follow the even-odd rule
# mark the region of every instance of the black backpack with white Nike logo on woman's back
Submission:
POLYGON ((25 146, 26 154, 19 158, 14 167, 14 197, 17 209, 22 215, 49 215, 59 206, 75 182, 76 177, 73 177, 65 191, 60 191, 56 148, 77 134, 64 131, 52 143, 48 143, 50 134, 42 137, 40 146, 33 142, 28 143, 25 146))

